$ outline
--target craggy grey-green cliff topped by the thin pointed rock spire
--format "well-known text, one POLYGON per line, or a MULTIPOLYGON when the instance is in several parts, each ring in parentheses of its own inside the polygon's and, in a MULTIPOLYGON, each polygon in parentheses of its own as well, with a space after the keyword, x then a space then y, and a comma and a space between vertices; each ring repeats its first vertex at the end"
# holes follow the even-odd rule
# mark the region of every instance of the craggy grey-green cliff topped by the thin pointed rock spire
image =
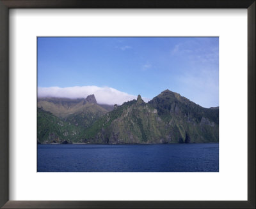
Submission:
POLYGON ((85 136, 95 143, 157 143, 161 126, 157 110, 138 96, 97 120, 85 136))

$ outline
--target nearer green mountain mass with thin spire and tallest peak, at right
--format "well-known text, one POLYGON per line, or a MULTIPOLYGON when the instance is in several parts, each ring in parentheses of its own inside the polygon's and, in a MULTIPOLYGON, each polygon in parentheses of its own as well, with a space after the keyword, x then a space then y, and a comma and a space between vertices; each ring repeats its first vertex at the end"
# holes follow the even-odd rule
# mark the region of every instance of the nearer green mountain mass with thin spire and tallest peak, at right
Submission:
POLYGON ((148 103, 139 95, 96 120, 85 131, 90 143, 218 142, 218 110, 203 108, 170 90, 148 103))

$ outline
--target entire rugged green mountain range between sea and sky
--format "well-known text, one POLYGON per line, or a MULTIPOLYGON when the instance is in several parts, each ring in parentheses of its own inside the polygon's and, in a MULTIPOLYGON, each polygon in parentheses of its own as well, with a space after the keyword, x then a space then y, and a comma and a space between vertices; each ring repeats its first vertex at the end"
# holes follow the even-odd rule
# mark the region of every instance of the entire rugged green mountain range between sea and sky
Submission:
MULTIPOLYGON (((113 108, 113 109, 112 109, 113 108)), ((207 143, 219 140, 219 110, 203 108, 170 90, 108 112, 95 97, 38 99, 38 141, 85 143, 207 143), (51 122, 49 122, 51 121, 51 122), (44 134, 43 134, 44 133, 44 134)))

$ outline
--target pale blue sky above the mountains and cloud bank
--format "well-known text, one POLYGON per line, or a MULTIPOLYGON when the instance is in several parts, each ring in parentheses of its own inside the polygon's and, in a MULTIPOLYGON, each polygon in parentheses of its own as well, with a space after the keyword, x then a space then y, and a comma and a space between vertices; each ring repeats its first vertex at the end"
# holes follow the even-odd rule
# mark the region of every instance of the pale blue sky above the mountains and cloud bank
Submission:
POLYGON ((141 94, 145 100, 169 89, 206 108, 219 106, 219 40, 38 38, 38 96, 68 97, 67 87, 76 87, 74 97, 81 96, 79 87, 84 96, 100 87, 108 89, 106 95, 117 90, 122 94, 115 97, 141 94))

